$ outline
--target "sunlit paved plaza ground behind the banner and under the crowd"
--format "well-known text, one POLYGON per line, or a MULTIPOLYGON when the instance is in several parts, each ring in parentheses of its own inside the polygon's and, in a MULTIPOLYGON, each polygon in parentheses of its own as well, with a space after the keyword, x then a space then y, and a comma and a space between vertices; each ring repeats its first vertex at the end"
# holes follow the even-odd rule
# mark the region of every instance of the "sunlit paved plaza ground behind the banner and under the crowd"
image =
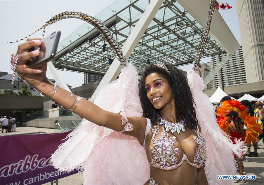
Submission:
MULTIPOLYGON (((16 132, 11 133, 1 133, 1 135, 10 135, 10 134, 22 134, 22 133, 32 133, 32 132, 45 132, 45 133, 58 133, 58 130, 50 129, 50 128, 36 128, 36 127, 17 127, 16 132)), ((1 138, 1 137, 0 137, 1 138)), ((246 180, 246 184, 248 185, 263 185, 264 184, 264 150, 263 143, 259 142, 258 146, 258 157, 247 157, 249 162, 243 162, 245 166, 245 171, 247 175, 255 175, 255 180, 246 180)), ((251 146, 251 151, 253 151, 253 146, 251 146)), ((45 185, 49 185, 51 183, 47 183, 45 185)), ((56 184, 55 182, 53 183, 56 184)), ((65 178, 59 179, 58 184, 63 185, 82 185, 82 172, 77 173, 71 176, 67 176, 65 178)), ((233 183, 241 184, 241 183, 233 183)))

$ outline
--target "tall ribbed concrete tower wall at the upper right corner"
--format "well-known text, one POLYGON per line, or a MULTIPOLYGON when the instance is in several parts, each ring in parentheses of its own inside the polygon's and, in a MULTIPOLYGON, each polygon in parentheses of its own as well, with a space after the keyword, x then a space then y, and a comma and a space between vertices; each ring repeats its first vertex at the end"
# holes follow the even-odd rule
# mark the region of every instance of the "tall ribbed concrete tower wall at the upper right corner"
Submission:
POLYGON ((264 13, 262 0, 237 0, 247 82, 264 80, 264 13))

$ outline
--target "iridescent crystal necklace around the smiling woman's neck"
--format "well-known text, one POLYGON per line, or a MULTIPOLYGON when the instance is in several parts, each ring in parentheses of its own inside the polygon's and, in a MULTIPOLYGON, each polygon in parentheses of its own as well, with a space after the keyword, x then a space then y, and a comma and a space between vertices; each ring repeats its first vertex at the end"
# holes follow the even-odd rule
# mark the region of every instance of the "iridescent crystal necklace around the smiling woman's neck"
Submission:
POLYGON ((185 132, 185 119, 177 122, 177 123, 171 123, 168 120, 165 120, 159 115, 160 118, 160 125, 164 125, 166 132, 169 132, 171 130, 171 133, 175 133, 175 131, 180 134, 180 131, 185 132))

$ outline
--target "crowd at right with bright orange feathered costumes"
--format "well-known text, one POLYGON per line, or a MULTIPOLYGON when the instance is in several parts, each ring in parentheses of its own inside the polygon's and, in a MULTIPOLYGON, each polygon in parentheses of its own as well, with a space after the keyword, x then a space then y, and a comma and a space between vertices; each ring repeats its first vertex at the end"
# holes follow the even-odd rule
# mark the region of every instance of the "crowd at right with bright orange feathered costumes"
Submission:
MULTIPOLYGON (((248 152, 243 158, 234 155, 237 161, 237 171, 240 175, 246 174, 244 171, 243 161, 249 162, 247 157, 258 157, 258 142, 263 138, 264 123, 264 102, 248 101, 241 102, 231 99, 230 96, 224 96, 221 104, 215 105, 216 118, 220 128, 230 136, 232 142, 236 144, 237 139, 244 140, 248 147, 248 152), (251 151, 251 143, 254 151, 251 151)), ((238 182, 238 180, 233 180, 238 182)), ((241 183, 245 183, 243 179, 241 183)))

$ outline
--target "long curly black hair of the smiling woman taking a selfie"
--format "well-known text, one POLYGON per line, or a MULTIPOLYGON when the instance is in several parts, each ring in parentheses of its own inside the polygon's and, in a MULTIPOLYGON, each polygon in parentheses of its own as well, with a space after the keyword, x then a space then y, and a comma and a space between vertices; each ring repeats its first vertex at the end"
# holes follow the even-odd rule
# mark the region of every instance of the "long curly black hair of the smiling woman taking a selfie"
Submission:
POLYGON ((165 69, 153 64, 148 65, 142 74, 142 78, 139 83, 139 97, 141 106, 143 108, 142 117, 149 118, 153 125, 158 124, 158 114, 160 114, 160 110, 155 109, 155 107, 151 104, 145 89, 146 77, 149 74, 156 72, 169 82, 173 97, 175 99, 177 120, 185 119, 185 124, 187 127, 196 129, 198 120, 196 118, 196 113, 193 106, 194 100, 191 89, 188 85, 187 76, 182 70, 171 64, 165 64, 165 66, 170 71, 170 74, 167 73, 165 69))

